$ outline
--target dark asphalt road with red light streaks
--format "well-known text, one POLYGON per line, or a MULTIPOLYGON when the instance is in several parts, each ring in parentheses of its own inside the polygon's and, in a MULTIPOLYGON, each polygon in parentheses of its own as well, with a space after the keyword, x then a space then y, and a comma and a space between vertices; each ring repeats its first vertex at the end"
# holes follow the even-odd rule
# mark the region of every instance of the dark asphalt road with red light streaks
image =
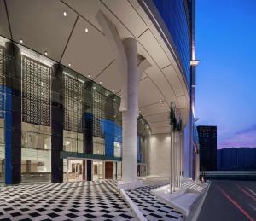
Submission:
POLYGON ((256 182, 212 180, 197 220, 256 220, 256 182))

